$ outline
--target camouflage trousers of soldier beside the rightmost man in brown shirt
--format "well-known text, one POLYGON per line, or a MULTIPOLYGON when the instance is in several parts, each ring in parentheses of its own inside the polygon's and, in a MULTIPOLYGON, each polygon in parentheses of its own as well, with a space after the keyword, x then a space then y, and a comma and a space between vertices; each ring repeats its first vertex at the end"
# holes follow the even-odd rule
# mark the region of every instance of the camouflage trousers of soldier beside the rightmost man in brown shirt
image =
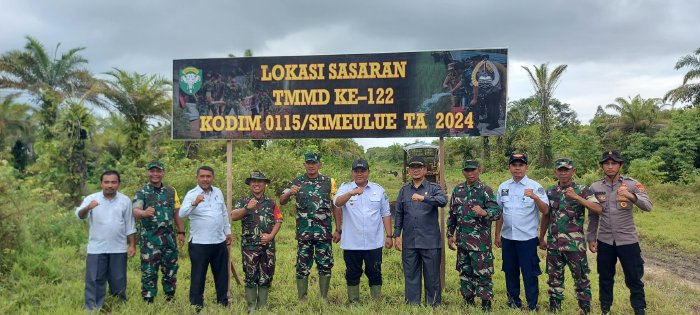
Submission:
POLYGON ((564 266, 568 265, 576 285, 576 298, 591 301, 590 269, 584 251, 547 250, 547 274, 549 275, 549 298, 561 302, 564 299, 564 266))

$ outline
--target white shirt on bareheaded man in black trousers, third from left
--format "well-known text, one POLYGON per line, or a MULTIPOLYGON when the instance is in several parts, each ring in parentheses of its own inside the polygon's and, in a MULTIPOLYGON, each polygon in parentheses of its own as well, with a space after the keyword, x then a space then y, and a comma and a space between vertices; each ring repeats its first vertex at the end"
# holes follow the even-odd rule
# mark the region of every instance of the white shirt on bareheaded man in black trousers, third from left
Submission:
POLYGON ((194 244, 219 244, 226 240, 226 235, 231 235, 226 201, 219 188, 211 186, 211 191, 204 193, 197 186, 188 191, 179 214, 181 218, 189 217, 190 241, 194 244), (193 207, 198 195, 204 195, 204 200, 193 207))

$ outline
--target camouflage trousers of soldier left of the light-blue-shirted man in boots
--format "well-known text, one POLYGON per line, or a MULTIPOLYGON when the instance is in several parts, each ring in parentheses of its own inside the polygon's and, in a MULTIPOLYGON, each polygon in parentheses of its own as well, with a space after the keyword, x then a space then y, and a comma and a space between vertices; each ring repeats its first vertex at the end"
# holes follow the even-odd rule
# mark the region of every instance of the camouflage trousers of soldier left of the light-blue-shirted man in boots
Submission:
POLYGON ((319 275, 330 275, 333 268, 331 240, 297 241, 297 279, 309 276, 316 260, 319 275))

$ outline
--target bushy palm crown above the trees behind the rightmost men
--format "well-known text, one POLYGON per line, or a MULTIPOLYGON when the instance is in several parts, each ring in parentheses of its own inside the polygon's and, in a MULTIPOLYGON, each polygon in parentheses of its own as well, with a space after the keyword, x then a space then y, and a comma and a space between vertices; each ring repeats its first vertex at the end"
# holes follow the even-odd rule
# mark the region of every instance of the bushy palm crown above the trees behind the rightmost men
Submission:
POLYGON ((642 132, 653 135, 664 125, 661 119, 662 104, 658 98, 643 99, 639 94, 627 99, 618 97, 615 103, 605 106, 617 112, 617 123, 613 126, 619 127, 627 132, 642 132))

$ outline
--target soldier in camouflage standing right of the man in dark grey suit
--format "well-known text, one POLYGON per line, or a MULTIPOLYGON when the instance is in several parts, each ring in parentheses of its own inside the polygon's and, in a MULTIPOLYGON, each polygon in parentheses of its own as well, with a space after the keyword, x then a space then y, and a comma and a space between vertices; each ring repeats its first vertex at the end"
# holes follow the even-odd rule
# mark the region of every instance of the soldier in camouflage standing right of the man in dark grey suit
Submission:
POLYGON ((450 197, 447 244, 451 250, 457 245, 460 292, 467 304, 475 305, 474 297, 478 296, 481 309, 490 311, 493 300, 491 222, 501 215, 501 208, 491 187, 479 180, 480 174, 478 161, 464 161, 462 175, 466 182, 457 185, 450 197))

